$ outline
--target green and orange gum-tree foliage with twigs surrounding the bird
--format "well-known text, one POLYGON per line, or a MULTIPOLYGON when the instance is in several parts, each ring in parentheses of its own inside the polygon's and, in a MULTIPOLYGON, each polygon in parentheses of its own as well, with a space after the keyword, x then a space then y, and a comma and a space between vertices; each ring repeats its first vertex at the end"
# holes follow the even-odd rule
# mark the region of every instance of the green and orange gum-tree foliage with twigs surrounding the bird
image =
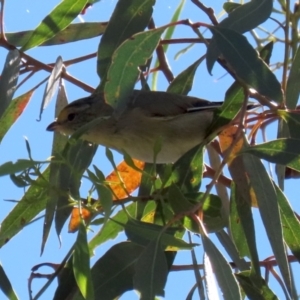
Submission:
MULTIPOLYGON (((187 94, 197 84, 194 76, 204 62, 207 71, 202 76, 209 76, 218 64, 234 83, 224 91, 225 102, 215 113, 206 143, 172 165, 145 164, 126 154, 124 162, 116 165, 107 149, 113 170, 104 176, 98 166, 91 166, 96 145, 57 134, 51 160, 35 160, 27 142, 28 159, 0 165, 0 176, 10 176, 17 187, 24 188, 23 197, 1 221, 0 246, 17 238, 16 234, 42 211, 42 252, 51 227, 60 236, 70 216, 69 231, 78 232, 68 255, 54 266, 46 285, 32 298, 40 298, 58 278, 53 299, 115 299, 133 289, 141 299, 155 299, 165 294, 170 272, 186 269, 173 262, 177 252, 188 250, 193 257, 190 269, 195 272, 195 284, 187 299, 196 291, 200 299, 216 299, 218 288, 224 299, 243 299, 243 295, 277 299, 269 286, 269 275, 263 276, 261 268, 274 275, 277 289, 282 289, 287 299, 296 299, 299 285, 293 284, 290 263, 300 262, 300 223, 284 194, 284 183, 287 178, 299 177, 300 172, 298 4, 291 8, 289 1, 279 0, 226 2, 227 15, 219 22, 202 2, 182 0, 172 22, 165 20, 164 26, 156 27, 154 0, 119 0, 108 22, 71 24, 90 4, 86 0, 61 1, 30 31, 5 34, 0 28, 0 45, 7 49, 0 79, 0 141, 24 112, 34 90, 45 82, 41 115, 57 86, 56 114, 65 105, 64 81, 93 92, 66 72, 72 63, 84 63, 90 57, 97 57, 99 85, 95 90, 103 91, 106 101, 117 109, 125 105, 124 99, 137 81, 148 88, 152 75, 158 72, 169 82, 167 90, 178 94, 187 94), (192 5, 199 11, 199 20, 206 16, 208 23, 180 20, 185 5, 192 5), (274 23, 278 26, 275 30, 274 23), (172 39, 173 29, 179 26, 185 27, 184 38, 172 39), (60 57, 54 64, 44 64, 26 53, 34 47, 64 47, 97 36, 101 38, 96 54, 74 58, 65 65, 60 57), (272 66, 272 51, 281 42, 281 61, 272 66), (166 45, 183 43, 191 47, 203 44, 206 50, 175 77, 167 63, 166 45), (39 70, 49 72, 49 78, 15 97, 20 78, 23 84, 39 70), (250 99, 261 107, 249 113, 250 99), (278 138, 258 142, 258 133, 275 121, 278 138), (206 148, 210 165, 204 164, 206 148), (276 165, 276 178, 266 162, 276 165), (210 179, 207 186, 203 186, 203 178, 210 179), (90 184, 97 199, 91 193, 82 194, 81 181, 90 184), (255 224, 254 210, 260 213, 266 243, 273 251, 274 257, 267 261, 260 261, 257 250, 257 230, 262 228, 255 224), (90 241, 88 227, 96 230, 90 241), (113 245, 90 267, 94 251, 120 232, 128 240, 113 245), (202 245, 192 241, 192 234, 201 235, 202 245), (200 266, 193 256, 199 247, 205 253, 200 266)), ((2 17, 3 6, 4 1, 2 17)), ((187 50, 181 55, 187 55, 187 50)), ((153 145, 154 152, 159 151, 158 144, 153 145)), ((9 299, 17 299, 2 266, 0 271, 0 288, 9 299)), ((31 280, 34 278, 33 272, 31 280)))

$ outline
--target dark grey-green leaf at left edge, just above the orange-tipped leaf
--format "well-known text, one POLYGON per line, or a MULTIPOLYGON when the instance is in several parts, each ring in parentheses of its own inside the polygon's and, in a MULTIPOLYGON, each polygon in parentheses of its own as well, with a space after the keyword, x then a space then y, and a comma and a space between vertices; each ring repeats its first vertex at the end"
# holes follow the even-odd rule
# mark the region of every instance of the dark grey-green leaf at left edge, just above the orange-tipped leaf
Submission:
POLYGON ((6 56, 0 79, 0 118, 13 98, 19 78, 21 56, 18 50, 10 50, 6 56))

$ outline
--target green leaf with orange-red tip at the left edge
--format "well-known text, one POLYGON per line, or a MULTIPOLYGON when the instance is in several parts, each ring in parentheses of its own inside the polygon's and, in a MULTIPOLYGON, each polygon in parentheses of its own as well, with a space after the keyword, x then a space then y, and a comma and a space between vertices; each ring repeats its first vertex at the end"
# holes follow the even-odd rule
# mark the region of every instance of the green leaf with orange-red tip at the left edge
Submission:
POLYGON ((2 141, 9 128, 18 120, 19 116, 26 108, 33 90, 17 97, 10 102, 9 106, 5 110, 4 114, 0 117, 0 142, 2 141))

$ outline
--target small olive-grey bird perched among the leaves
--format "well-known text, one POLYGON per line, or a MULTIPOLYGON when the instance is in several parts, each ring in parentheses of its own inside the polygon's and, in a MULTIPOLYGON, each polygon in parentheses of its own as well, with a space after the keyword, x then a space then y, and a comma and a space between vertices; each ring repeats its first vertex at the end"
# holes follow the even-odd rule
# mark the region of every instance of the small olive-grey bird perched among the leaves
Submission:
POLYGON ((116 114, 103 94, 76 100, 62 109, 47 130, 70 135, 99 118, 95 126, 82 134, 82 139, 153 162, 153 147, 161 138, 156 162, 172 163, 203 141, 214 110, 223 102, 134 90, 126 103, 126 108, 116 114))

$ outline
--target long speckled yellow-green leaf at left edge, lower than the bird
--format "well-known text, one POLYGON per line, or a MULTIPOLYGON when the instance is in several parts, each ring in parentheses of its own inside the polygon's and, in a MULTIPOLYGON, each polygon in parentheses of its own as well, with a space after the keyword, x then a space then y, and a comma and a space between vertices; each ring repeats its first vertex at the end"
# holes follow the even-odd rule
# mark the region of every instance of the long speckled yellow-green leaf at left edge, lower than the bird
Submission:
POLYGON ((1 223, 0 247, 45 209, 49 197, 49 167, 28 188, 22 199, 1 223))

